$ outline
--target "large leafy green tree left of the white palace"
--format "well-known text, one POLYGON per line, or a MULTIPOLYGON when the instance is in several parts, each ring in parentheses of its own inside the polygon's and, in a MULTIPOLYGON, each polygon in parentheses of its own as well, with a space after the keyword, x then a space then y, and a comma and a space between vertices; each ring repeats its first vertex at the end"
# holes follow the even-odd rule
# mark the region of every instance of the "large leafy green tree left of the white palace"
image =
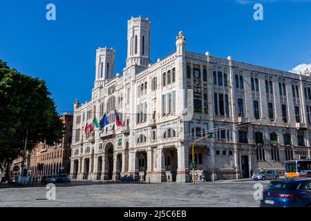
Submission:
POLYGON ((64 124, 45 81, 23 75, 0 59, 0 162, 7 167, 23 153, 27 130, 31 150, 39 142, 59 142, 64 124))

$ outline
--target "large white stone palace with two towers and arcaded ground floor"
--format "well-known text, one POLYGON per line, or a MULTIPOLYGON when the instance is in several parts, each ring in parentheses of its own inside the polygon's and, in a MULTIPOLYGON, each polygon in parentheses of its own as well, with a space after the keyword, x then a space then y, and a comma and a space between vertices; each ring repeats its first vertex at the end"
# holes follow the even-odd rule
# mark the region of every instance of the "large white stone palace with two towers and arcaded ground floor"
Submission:
MULTIPOLYGON (((128 21, 127 58, 114 73, 115 50, 96 51, 92 99, 74 104, 70 173, 77 180, 189 182, 191 144, 206 180, 248 177, 310 158, 311 78, 186 50, 150 60, 149 19, 128 21), (114 126, 114 110, 124 126, 114 126), (106 113, 109 126, 84 133, 106 113)), ((172 39, 173 40, 173 39, 172 39)), ((192 39, 195 41, 196 39, 192 39)), ((173 43, 173 41, 172 41, 173 43)), ((201 177, 200 177, 201 179, 201 177)))

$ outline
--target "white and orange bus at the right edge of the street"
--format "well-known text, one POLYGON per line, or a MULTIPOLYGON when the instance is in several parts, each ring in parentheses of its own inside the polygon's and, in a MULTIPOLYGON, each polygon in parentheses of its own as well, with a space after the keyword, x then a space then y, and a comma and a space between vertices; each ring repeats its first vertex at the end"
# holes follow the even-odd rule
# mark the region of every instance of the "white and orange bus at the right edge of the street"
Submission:
POLYGON ((285 177, 311 177, 311 160, 285 161, 285 177))

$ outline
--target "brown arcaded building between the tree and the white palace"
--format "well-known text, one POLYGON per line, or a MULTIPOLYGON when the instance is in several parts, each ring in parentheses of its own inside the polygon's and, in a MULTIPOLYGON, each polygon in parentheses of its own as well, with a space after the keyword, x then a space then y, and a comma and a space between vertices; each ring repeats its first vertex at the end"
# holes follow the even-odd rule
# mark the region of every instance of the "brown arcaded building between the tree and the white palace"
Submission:
POLYGON ((39 143, 30 154, 30 176, 54 175, 58 173, 70 173, 70 155, 73 133, 73 115, 64 113, 59 117, 65 126, 61 142, 54 146, 39 143), (42 170, 38 164, 44 164, 42 170))

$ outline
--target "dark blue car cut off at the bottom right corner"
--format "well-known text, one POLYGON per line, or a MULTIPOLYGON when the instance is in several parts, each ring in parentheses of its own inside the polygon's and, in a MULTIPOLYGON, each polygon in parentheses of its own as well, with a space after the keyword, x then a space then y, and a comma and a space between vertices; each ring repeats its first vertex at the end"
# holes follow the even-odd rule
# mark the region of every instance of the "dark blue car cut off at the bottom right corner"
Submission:
POLYGON ((270 182, 263 191, 261 207, 311 207, 311 178, 270 182))

